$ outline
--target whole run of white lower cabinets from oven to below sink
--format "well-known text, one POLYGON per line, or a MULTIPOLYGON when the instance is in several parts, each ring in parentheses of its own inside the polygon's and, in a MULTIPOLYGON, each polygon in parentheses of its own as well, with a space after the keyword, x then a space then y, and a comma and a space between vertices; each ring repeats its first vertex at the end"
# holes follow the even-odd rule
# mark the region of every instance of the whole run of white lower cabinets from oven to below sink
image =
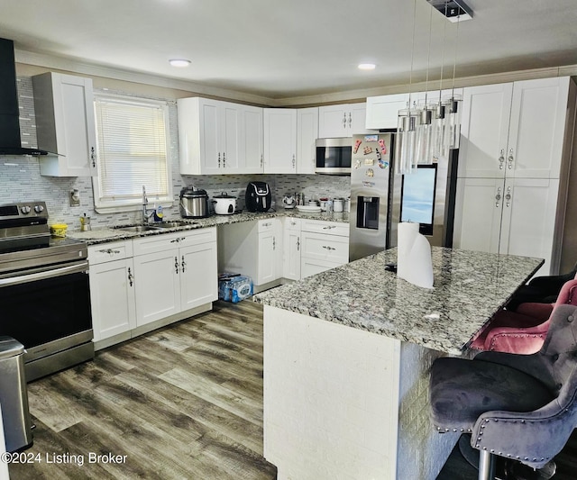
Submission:
POLYGON ((215 227, 90 246, 95 348, 206 311, 218 298, 216 257, 215 227))

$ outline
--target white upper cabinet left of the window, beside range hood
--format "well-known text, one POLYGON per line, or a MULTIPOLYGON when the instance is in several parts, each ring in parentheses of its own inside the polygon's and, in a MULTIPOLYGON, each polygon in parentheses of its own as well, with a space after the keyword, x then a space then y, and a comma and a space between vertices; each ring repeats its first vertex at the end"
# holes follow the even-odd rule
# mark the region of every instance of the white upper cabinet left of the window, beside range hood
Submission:
POLYGON ((32 77, 41 175, 94 177, 96 128, 92 80, 48 72, 32 77))

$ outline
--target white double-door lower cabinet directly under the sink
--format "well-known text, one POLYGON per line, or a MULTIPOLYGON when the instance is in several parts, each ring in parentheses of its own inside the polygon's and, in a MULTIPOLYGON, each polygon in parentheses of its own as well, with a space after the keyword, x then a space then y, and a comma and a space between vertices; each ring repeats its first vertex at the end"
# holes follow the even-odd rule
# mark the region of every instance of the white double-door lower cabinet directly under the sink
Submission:
POLYGON ((216 228, 133 240, 136 325, 218 298, 216 228))

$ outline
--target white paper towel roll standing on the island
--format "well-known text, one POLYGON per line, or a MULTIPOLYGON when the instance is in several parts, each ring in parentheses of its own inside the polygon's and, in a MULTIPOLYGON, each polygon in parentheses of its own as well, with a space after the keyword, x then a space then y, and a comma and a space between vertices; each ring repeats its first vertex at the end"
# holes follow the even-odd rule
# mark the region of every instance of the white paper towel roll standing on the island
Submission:
POLYGON ((431 245, 418 232, 418 223, 398 223, 397 276, 411 284, 433 288, 431 245))

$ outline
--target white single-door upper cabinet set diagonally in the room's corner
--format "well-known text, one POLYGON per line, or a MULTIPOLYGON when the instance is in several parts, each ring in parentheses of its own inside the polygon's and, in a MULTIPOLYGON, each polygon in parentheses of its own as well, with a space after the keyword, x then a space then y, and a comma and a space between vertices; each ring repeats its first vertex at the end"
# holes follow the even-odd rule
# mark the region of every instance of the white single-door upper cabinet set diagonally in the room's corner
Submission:
POLYGON ((265 108, 264 173, 297 173, 297 110, 265 108))

